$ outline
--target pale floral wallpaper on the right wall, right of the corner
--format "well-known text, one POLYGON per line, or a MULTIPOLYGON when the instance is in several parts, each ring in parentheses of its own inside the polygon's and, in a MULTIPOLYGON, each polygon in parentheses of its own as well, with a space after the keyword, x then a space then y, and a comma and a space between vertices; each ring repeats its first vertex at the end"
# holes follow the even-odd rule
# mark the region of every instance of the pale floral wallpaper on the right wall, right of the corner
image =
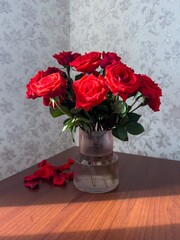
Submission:
POLYGON ((180 1, 71 0, 70 13, 71 49, 115 51, 163 90, 161 111, 142 111, 146 131, 115 149, 180 160, 180 1))

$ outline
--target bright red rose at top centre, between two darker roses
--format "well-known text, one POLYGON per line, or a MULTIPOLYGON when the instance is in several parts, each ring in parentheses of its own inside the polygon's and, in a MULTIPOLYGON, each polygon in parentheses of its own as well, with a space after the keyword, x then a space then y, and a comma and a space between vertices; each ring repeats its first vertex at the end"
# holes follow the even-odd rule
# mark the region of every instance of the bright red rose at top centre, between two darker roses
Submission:
POLYGON ((101 53, 90 52, 85 53, 80 57, 77 57, 70 63, 71 67, 74 67, 76 71, 92 73, 101 63, 101 53))

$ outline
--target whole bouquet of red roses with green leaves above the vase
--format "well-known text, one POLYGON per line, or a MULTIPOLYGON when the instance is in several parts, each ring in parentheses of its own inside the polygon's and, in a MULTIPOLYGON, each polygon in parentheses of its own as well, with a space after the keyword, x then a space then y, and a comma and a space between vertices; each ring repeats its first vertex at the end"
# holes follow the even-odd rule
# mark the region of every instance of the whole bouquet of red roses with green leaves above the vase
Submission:
POLYGON ((149 106, 159 111, 162 91, 158 84, 136 74, 116 53, 81 55, 70 51, 53 57, 60 68, 39 71, 27 84, 26 97, 42 97, 53 117, 66 115, 63 130, 70 129, 72 135, 77 127, 85 131, 112 129, 115 137, 127 141, 128 134, 144 131, 136 109, 149 106))

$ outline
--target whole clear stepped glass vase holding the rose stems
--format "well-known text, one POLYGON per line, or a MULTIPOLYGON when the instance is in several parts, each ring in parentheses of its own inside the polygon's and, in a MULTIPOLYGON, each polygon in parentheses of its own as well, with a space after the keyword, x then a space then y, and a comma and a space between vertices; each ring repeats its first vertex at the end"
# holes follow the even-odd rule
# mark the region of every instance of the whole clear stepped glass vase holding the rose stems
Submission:
POLYGON ((79 130, 79 154, 74 164, 74 185, 81 191, 104 193, 119 183, 118 155, 113 153, 112 131, 79 130))

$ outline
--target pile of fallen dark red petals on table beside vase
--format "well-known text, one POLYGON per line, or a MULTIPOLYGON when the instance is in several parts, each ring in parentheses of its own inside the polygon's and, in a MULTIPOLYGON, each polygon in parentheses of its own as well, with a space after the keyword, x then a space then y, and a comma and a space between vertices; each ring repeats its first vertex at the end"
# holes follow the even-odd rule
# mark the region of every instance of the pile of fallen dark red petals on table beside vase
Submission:
POLYGON ((38 170, 32 175, 24 177, 24 186, 34 189, 38 187, 40 180, 52 182, 54 185, 62 186, 67 180, 73 180, 73 172, 67 172, 70 169, 70 165, 74 163, 74 160, 68 159, 68 161, 61 166, 52 166, 47 160, 42 160, 38 163, 38 170))

